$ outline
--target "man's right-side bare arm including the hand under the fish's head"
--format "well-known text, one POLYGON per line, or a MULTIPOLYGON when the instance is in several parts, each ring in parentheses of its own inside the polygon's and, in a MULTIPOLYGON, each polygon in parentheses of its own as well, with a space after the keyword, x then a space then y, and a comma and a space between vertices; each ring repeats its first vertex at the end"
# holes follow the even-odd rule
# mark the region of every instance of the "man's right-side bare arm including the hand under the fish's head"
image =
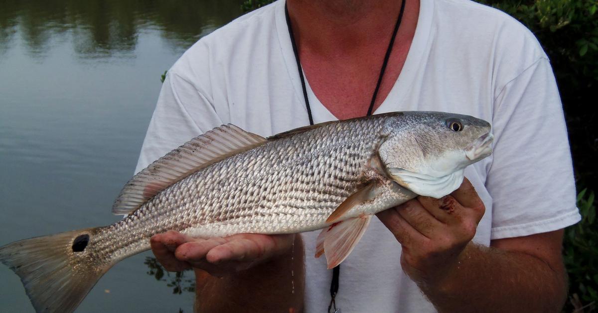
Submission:
POLYGON ((401 265, 440 312, 559 312, 563 231, 474 244, 484 206, 469 181, 443 199, 417 197, 378 214, 401 265))

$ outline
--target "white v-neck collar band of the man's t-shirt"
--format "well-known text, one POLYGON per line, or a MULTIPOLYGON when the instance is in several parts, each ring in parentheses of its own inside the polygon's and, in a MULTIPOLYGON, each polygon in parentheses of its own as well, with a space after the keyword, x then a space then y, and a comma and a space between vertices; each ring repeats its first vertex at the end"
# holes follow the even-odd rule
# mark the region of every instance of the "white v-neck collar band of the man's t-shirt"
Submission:
MULTIPOLYGON (((282 51, 285 60, 289 78, 295 89, 295 96, 300 99, 301 103, 304 103, 303 88, 301 87, 297 62, 295 61, 295 54, 293 53, 291 35, 289 35, 288 27, 286 25, 285 0, 276 3, 274 14, 276 14, 276 32, 280 43, 280 50, 282 51)), ((426 47, 428 47, 429 39, 431 38, 430 33, 432 29, 433 14, 434 0, 420 0, 419 16, 417 17, 415 34, 413 35, 413 40, 411 41, 411 46, 409 47, 407 58, 405 59, 401 73, 396 79, 395 84, 393 84, 392 89, 390 89, 386 99, 384 99, 382 104, 380 104, 373 114, 401 109, 398 107, 398 104, 402 102, 401 100, 405 98, 410 90, 411 84, 413 84, 413 81, 415 80, 414 78, 417 74, 417 69, 422 65, 422 59, 426 55, 426 47)), ((314 123, 338 120, 338 118, 335 117, 324 104, 322 104, 315 93, 313 93, 307 77, 305 75, 303 77, 305 78, 307 98, 309 99, 310 108, 312 109, 314 123)))

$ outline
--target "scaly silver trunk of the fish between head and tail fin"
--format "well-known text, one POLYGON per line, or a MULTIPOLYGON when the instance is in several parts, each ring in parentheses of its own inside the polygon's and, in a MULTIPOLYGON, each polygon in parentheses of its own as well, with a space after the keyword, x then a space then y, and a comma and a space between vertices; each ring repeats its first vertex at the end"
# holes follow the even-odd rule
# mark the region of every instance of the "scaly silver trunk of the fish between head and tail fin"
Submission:
MULTIPOLYGON (((119 254, 127 257, 167 230, 210 238, 325 227, 332 211, 367 180, 383 122, 356 119, 273 136, 158 193, 90 244, 131 250, 119 254)), ((405 192, 406 200, 414 196, 405 192)))

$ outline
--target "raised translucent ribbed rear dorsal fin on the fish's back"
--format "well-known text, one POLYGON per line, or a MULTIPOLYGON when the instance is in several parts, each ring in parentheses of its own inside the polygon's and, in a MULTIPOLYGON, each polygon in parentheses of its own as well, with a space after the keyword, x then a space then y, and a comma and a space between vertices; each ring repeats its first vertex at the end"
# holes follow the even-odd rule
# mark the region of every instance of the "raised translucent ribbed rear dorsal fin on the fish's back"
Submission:
POLYGON ((234 154, 263 145, 266 138, 233 124, 222 125, 170 151, 137 173, 112 205, 114 214, 130 214, 183 178, 234 154))

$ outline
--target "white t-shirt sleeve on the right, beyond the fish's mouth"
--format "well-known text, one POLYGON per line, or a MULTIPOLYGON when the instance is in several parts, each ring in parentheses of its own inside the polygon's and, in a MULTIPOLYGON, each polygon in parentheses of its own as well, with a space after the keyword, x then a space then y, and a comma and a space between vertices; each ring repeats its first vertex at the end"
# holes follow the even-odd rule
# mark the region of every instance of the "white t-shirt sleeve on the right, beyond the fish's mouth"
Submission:
POLYGON ((580 220, 569 141, 550 62, 542 57, 495 99, 491 239, 562 229, 580 220))

